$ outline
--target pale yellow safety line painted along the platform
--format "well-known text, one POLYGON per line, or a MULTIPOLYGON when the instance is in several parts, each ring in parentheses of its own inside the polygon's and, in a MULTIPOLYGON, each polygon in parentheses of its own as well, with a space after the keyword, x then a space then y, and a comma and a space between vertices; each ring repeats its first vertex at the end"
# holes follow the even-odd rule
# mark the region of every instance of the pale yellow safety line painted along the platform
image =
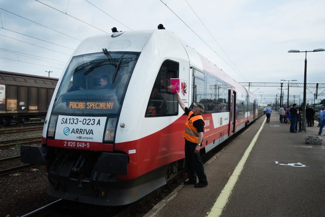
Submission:
POLYGON ((208 217, 216 217, 216 216, 220 216, 222 214, 222 211, 223 211, 225 205, 227 204, 227 202, 230 198, 230 195, 233 192, 235 184, 244 168, 244 165, 247 161, 247 158, 248 158, 251 150, 253 149, 253 147, 255 145, 255 142, 258 138, 259 133, 261 133, 261 131, 264 127, 265 122, 266 122, 266 118, 264 119, 261 128, 259 128, 259 130, 257 131, 256 135, 254 136, 253 140, 250 142, 242 159, 239 161, 233 174, 230 176, 228 182, 226 183, 226 185, 224 185, 224 188, 222 189, 219 197, 217 198, 217 201, 214 203, 213 207, 211 208, 211 211, 208 213, 208 215, 207 215, 208 217))

